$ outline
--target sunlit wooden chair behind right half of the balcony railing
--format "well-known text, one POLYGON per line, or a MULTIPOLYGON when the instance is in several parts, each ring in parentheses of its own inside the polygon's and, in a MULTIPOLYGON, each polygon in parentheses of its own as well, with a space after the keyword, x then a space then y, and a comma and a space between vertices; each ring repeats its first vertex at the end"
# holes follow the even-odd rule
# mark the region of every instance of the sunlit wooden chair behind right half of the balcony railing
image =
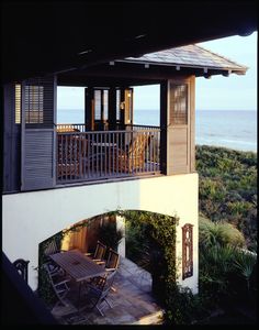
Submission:
POLYGON ((113 147, 111 150, 110 168, 112 172, 134 173, 145 167, 145 151, 150 142, 150 135, 135 133, 136 138, 130 143, 127 150, 113 147))

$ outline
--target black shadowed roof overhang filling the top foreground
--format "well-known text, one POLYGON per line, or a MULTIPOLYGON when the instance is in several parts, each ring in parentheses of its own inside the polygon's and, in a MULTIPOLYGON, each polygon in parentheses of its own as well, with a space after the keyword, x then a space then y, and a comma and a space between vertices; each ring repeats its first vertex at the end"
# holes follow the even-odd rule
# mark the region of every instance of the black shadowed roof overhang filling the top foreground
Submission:
POLYGON ((257 1, 1 3, 2 80, 142 56, 257 30, 257 1))

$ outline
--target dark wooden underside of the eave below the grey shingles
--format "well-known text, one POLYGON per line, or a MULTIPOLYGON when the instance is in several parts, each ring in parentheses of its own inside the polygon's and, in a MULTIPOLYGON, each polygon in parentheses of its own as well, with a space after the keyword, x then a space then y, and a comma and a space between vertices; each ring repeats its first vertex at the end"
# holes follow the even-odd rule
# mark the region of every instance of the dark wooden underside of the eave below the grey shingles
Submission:
POLYGON ((140 86, 159 84, 171 78, 188 76, 210 77, 212 75, 227 76, 229 74, 244 75, 241 70, 227 68, 207 68, 205 66, 162 65, 156 63, 139 63, 132 61, 115 61, 83 69, 57 74, 59 86, 140 86), (148 67, 145 65, 148 64, 148 67))

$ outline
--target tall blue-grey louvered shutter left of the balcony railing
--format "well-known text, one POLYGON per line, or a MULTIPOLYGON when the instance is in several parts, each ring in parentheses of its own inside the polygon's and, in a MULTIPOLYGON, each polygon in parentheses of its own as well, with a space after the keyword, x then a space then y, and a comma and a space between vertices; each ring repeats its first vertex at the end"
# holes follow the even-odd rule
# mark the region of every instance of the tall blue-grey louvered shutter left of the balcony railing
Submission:
POLYGON ((22 190, 55 183, 56 78, 22 84, 22 190))

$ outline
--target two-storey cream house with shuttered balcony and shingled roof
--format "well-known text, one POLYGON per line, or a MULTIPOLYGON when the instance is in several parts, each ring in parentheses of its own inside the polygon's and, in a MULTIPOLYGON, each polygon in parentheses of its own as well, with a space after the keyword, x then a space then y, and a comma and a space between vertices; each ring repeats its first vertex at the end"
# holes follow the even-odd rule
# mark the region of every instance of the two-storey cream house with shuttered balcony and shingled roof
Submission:
POLYGON ((179 218, 177 280, 198 293, 195 77, 246 70, 189 45, 4 85, 2 249, 30 260, 33 289, 41 242, 122 209, 179 218), (160 127, 134 125, 134 86, 150 84, 160 127), (83 123, 57 123, 57 86, 85 87, 83 123))

